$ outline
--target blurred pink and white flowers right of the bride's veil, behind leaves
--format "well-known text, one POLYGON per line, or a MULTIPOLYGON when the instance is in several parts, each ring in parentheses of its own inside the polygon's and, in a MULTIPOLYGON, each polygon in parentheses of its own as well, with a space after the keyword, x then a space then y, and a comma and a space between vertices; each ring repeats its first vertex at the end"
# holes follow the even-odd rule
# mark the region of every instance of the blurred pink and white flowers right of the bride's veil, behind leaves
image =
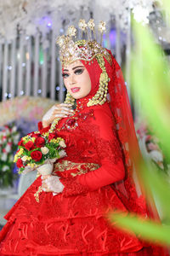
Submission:
POLYGON ((150 160, 152 160, 161 170, 167 171, 169 165, 162 153, 161 142, 154 134, 152 134, 144 122, 142 125, 139 125, 139 129, 137 129, 137 137, 139 141, 143 141, 143 145, 146 149, 145 154, 147 154, 150 160))

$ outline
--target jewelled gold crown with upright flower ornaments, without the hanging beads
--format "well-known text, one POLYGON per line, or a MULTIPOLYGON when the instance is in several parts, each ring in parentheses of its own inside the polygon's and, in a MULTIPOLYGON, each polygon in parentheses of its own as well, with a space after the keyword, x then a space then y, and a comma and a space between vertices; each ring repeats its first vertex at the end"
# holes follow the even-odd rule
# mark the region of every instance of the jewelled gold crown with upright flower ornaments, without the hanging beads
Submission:
POLYGON ((85 20, 79 20, 79 28, 82 30, 82 33, 86 33, 88 36, 88 41, 78 40, 74 42, 73 38, 76 40, 77 29, 74 26, 69 26, 66 36, 60 36, 57 38, 57 44, 59 44, 59 58, 63 66, 68 66, 73 61, 83 60, 83 61, 92 61, 97 55, 105 56, 106 60, 111 64, 111 55, 109 52, 101 46, 103 33, 105 32, 105 22, 99 22, 99 32, 100 32, 100 44, 96 41, 96 32, 94 30, 94 20, 91 19, 88 21, 88 24, 85 20), (89 32, 88 32, 89 28, 89 32), (95 40, 92 40, 94 34, 95 40))

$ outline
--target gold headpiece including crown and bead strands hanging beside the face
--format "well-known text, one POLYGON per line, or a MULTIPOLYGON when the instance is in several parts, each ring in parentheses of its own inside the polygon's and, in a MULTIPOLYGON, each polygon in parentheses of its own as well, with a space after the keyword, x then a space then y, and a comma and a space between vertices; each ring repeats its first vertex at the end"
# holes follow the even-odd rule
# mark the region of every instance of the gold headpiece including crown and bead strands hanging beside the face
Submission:
MULTIPOLYGON (((69 64, 71 64, 71 62, 77 60, 88 61, 88 63, 90 64, 90 61, 93 61, 93 59, 96 58, 99 63, 99 67, 102 70, 99 78, 99 90, 91 99, 89 99, 87 105, 88 107, 97 104, 102 105, 106 101, 108 83, 110 81, 110 78, 106 73, 104 57, 110 64, 112 63, 111 54, 101 46, 103 33, 105 32, 105 22, 100 21, 98 26, 98 31, 101 38, 100 44, 96 41, 96 32, 94 30, 95 25, 93 19, 89 20, 88 23, 86 23, 85 20, 79 20, 78 26, 82 30, 82 34, 87 34, 88 40, 76 41, 77 29, 74 26, 69 26, 66 36, 63 35, 57 38, 56 43, 59 44, 60 47, 60 61, 63 66, 68 66, 69 64), (95 40, 92 39, 93 36, 95 40), (74 38, 76 42, 74 42, 74 38)), ((67 91, 65 103, 74 104, 74 102, 75 99, 67 91)), ((54 125, 52 126, 54 127, 54 125)))

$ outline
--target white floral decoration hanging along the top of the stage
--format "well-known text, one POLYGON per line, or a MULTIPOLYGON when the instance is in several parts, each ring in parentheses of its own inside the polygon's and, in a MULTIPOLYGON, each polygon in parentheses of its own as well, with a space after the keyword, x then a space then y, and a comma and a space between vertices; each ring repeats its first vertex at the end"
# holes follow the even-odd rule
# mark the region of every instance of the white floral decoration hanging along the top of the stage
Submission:
MULTIPOLYGON (((59 32, 65 21, 75 24, 80 15, 89 17, 89 9, 94 13, 95 20, 102 19, 109 21, 111 15, 120 17, 119 23, 122 28, 127 26, 129 10, 133 10, 134 18, 138 21, 148 23, 149 14, 153 12, 154 0, 8 0, 0 3, 0 41, 9 42, 16 38, 17 31, 26 36, 35 36, 37 32, 42 33, 42 37, 53 28, 59 32)), ((157 3, 161 4, 162 0, 157 3)), ((83 26, 84 30, 86 26, 83 26)), ((58 33, 59 34, 59 33, 58 33)))

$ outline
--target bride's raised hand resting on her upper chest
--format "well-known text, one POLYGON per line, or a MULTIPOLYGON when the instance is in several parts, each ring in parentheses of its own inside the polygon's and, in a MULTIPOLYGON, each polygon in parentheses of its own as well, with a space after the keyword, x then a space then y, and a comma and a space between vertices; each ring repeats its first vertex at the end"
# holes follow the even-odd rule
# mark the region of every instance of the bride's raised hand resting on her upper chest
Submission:
POLYGON ((42 126, 47 127, 52 124, 56 118, 65 118, 74 113, 74 110, 71 109, 71 104, 55 104, 52 108, 48 110, 47 113, 42 117, 42 126))

